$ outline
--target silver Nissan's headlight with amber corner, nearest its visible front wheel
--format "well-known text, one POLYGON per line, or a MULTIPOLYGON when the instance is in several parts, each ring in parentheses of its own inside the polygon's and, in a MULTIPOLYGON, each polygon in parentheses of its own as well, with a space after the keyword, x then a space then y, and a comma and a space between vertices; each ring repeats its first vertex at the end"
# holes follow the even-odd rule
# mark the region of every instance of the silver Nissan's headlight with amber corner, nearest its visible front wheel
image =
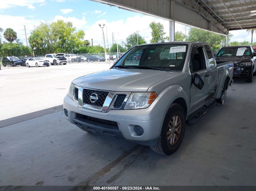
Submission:
POLYGON ((125 110, 148 107, 157 97, 155 92, 133 92, 125 104, 125 110))

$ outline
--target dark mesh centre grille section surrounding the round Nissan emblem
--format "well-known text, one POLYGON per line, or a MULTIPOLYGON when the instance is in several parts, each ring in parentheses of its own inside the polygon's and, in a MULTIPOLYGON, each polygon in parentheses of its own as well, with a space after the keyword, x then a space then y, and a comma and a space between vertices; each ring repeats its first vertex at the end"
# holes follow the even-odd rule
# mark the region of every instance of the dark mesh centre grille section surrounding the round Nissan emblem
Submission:
POLYGON ((102 107, 103 103, 105 102, 106 97, 108 96, 108 93, 109 93, 108 91, 84 89, 83 90, 83 104, 102 107), (98 95, 98 100, 95 103, 92 103, 90 100, 90 96, 93 93, 98 95))

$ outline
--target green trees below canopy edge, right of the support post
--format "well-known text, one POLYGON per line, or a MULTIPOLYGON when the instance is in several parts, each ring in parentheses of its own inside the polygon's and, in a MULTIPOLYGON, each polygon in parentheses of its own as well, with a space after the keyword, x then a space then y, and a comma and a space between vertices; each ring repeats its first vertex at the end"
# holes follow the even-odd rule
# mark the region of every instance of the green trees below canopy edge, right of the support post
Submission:
MULTIPOLYGON (((228 38, 232 36, 232 34, 229 34, 228 38)), ((219 45, 221 44, 221 40, 223 41, 223 45, 225 46, 225 36, 196 28, 190 28, 188 32, 188 37, 186 38, 186 41, 206 42, 211 46, 212 49, 218 49, 219 45)))

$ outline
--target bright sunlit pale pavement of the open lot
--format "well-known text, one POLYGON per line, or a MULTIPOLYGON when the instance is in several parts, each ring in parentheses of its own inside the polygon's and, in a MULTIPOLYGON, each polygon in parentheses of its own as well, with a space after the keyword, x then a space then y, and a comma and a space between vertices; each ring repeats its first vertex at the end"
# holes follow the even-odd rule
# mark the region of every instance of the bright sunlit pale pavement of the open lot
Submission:
POLYGON ((109 63, 105 62, 1 67, 0 120, 62 105, 72 80, 108 68, 109 63))

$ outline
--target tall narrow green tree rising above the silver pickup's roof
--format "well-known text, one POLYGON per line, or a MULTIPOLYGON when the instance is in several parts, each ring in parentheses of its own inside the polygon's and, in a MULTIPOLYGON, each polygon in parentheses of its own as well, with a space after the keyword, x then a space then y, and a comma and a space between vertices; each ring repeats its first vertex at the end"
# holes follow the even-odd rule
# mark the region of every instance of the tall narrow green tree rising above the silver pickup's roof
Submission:
POLYGON ((151 22, 149 24, 149 27, 151 28, 151 36, 152 39, 150 40, 150 43, 158 43, 162 42, 168 39, 168 37, 164 37, 164 25, 160 22, 156 23, 155 21, 151 22))

